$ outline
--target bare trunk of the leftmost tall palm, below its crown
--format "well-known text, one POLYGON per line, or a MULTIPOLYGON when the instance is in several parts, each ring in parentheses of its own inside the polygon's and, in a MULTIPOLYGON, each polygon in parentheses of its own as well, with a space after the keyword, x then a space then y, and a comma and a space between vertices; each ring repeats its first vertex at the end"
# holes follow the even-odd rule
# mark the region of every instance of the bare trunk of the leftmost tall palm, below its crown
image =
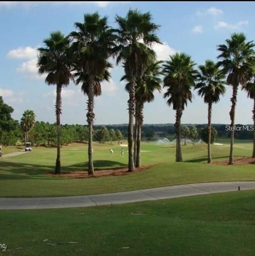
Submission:
POLYGON ((55 174, 61 174, 60 163, 60 145, 61 145, 61 131, 60 131, 60 115, 61 115, 61 89, 62 85, 57 84, 57 98, 56 98, 56 115, 57 115, 57 159, 55 166, 55 174))

